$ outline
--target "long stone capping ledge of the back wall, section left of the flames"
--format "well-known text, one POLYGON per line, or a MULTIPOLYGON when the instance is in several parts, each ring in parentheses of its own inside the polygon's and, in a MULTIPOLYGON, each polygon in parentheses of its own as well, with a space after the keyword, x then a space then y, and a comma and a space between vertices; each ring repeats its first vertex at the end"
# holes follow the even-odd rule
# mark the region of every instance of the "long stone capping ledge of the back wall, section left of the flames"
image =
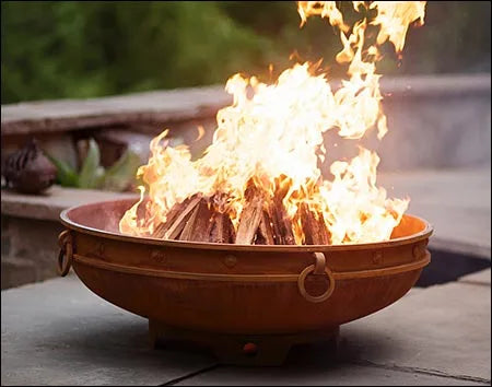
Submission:
POLYGON ((230 101, 223 87, 209 86, 2 105, 1 134, 183 121, 213 116, 230 101))

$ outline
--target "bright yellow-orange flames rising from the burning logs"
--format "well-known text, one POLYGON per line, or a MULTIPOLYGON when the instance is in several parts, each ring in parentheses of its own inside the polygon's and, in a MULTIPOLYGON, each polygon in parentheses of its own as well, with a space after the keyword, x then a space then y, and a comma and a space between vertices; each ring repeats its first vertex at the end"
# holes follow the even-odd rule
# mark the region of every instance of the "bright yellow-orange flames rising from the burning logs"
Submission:
POLYGON ((373 127, 379 139, 387 132, 376 73, 378 46, 389 40, 401 51, 409 25, 423 23, 425 2, 353 2, 355 11, 363 7, 376 15, 350 27, 335 1, 300 1, 301 25, 320 15, 340 30, 343 48, 336 59, 348 63, 341 87, 333 91, 308 62, 283 71, 273 84, 233 75, 225 90, 234 102, 218 113, 212 144, 202 157, 194 161, 187 146, 164 144, 167 131, 152 141, 149 163, 138 172, 147 188, 140 188, 141 200, 122 216, 121 233, 152 236, 176 203, 196 194, 214 198, 237 230, 253 185, 269 200, 283 191, 296 244, 306 243, 303 206, 323 220, 330 244, 389 239, 409 200, 389 199, 376 186, 377 154, 361 149, 350 162, 335 162, 332 180, 318 166, 325 160, 327 130, 348 139, 360 139, 373 127), (365 37, 370 25, 379 27, 373 45, 365 37), (139 215, 145 194, 144 214, 139 215))

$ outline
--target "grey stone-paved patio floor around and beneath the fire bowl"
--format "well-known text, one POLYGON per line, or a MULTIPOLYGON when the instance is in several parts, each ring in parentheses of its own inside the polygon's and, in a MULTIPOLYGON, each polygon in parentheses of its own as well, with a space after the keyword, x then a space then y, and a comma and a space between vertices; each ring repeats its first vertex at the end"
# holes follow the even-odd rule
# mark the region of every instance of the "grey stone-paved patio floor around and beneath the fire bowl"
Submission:
MULTIPOLYGON (((379 181, 391 196, 409 195, 410 212, 433 223, 432 248, 490 262, 490 168, 384 174, 379 181)), ((2 213, 22 211, 2 199, 2 213)), ((489 268, 413 288, 342 326, 336 359, 323 344, 304 345, 282 367, 243 368, 192 348, 151 350, 145 319, 94 295, 72 274, 2 291, 1 384, 490 385, 490 286, 489 268)))

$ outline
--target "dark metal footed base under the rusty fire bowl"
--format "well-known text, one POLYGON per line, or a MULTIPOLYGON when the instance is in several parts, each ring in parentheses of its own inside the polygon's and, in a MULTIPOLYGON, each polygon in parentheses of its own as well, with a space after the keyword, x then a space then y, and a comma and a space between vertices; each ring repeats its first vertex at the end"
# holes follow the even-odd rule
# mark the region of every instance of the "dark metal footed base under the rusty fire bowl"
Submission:
POLYGON ((325 341, 330 352, 337 351, 339 327, 296 335, 221 335, 169 327, 149 320, 150 342, 153 348, 166 341, 185 341, 212 350, 221 364, 246 366, 279 366, 293 345, 325 341))

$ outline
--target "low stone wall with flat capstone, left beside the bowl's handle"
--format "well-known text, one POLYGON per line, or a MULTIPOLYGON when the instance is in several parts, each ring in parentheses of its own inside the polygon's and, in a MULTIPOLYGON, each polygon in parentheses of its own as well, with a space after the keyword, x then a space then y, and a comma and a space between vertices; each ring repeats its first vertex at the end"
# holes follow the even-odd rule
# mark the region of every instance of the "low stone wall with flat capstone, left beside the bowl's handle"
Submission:
POLYGON ((65 230, 59 222, 62 210, 94 201, 133 197, 133 194, 57 186, 44 196, 2 190, 1 288, 19 286, 58 275, 58 235, 65 230))

